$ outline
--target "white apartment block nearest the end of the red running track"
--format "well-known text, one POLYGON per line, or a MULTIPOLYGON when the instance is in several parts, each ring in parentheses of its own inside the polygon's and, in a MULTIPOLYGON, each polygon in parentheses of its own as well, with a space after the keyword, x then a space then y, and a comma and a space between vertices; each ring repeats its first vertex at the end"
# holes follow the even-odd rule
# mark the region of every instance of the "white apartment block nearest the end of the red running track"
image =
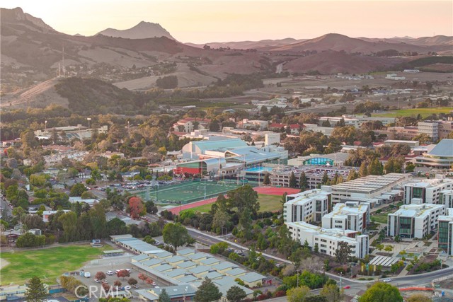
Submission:
POLYGON ((331 207, 331 193, 320 189, 309 190, 297 194, 289 194, 283 205, 283 219, 286 222, 321 221, 331 207))

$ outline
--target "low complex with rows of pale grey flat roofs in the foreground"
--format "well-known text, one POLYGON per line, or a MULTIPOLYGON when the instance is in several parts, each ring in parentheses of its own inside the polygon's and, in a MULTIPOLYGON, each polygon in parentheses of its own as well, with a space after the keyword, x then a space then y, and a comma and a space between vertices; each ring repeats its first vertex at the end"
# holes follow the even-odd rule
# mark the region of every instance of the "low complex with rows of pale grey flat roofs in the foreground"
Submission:
MULTIPOLYGON (((270 279, 262 274, 249 272, 232 262, 192 248, 178 250, 176 255, 173 255, 171 252, 133 238, 131 235, 115 235, 110 238, 113 243, 138 254, 132 257, 131 262, 138 272, 169 285, 167 288, 172 291, 176 289, 179 297, 184 294, 185 287, 192 292, 190 287, 193 286, 196 291, 205 278, 211 279, 225 295, 231 286, 239 286, 246 291, 247 296, 253 294, 251 289, 239 285, 236 279, 241 279, 243 284, 249 287, 270 283, 270 279)), ((176 291, 174 292, 177 294, 176 291)), ((159 291, 149 289, 137 291, 137 293, 144 301, 154 301, 160 294, 159 291)))

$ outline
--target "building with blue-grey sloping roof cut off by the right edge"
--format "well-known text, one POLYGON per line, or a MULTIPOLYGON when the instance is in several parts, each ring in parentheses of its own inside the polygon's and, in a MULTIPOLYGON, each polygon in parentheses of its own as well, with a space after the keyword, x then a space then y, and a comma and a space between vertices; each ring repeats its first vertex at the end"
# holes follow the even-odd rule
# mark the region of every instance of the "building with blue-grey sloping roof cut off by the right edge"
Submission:
POLYGON ((453 165, 453 139, 442 139, 433 148, 428 148, 428 152, 415 157, 415 165, 424 165, 430 168, 451 168, 453 165))

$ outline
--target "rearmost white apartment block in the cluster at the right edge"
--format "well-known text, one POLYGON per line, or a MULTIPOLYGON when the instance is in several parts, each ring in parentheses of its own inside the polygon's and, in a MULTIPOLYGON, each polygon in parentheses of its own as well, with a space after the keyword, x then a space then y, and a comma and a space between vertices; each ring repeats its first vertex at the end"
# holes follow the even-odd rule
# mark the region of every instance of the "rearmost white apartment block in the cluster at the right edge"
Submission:
POLYGON ((440 204, 440 192, 452 189, 453 180, 446 179, 445 175, 408 182, 404 184, 404 204, 440 204))

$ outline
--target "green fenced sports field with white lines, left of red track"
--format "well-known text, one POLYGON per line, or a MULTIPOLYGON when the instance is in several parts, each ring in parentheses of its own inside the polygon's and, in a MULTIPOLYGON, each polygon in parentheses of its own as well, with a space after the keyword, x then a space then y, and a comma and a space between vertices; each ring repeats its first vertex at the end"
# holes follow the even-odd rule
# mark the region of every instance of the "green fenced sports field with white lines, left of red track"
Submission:
POLYGON ((151 199, 156 203, 168 204, 188 204, 199 200, 217 197, 221 193, 236 189, 239 187, 235 182, 182 182, 176 185, 168 185, 165 187, 153 187, 136 191, 134 194, 144 200, 151 199))

